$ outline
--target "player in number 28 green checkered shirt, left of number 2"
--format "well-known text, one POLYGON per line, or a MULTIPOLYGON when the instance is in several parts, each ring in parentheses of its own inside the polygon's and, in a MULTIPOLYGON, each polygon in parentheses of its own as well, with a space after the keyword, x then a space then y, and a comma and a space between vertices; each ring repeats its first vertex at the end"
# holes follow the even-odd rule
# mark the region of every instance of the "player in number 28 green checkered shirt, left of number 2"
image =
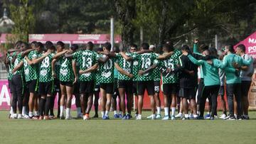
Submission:
POLYGON ((51 60, 53 58, 53 43, 50 41, 46 42, 46 52, 39 54, 37 59, 29 60, 26 57, 28 65, 40 64, 39 68, 39 94, 41 96, 39 102, 39 119, 49 119, 48 113, 50 109, 52 92, 53 92, 53 77, 51 75, 51 60), (44 117, 43 117, 44 112, 44 117))

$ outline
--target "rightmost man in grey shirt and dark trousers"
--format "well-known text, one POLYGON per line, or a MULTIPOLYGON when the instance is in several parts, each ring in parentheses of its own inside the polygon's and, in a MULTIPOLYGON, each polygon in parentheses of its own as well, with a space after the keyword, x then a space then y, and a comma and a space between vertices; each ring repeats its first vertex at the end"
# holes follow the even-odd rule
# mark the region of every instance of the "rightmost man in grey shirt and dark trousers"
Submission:
MULTIPOLYGON (((240 55, 243 60, 250 60, 250 55, 247 55, 245 53, 245 45, 238 45, 236 49, 236 54, 240 55)), ((248 92, 250 89, 250 84, 252 83, 252 74, 254 73, 253 64, 251 63, 249 66, 242 66, 241 67, 241 93, 242 93, 242 118, 243 119, 249 119, 248 116, 248 107, 249 107, 249 101, 248 101, 248 92)))

